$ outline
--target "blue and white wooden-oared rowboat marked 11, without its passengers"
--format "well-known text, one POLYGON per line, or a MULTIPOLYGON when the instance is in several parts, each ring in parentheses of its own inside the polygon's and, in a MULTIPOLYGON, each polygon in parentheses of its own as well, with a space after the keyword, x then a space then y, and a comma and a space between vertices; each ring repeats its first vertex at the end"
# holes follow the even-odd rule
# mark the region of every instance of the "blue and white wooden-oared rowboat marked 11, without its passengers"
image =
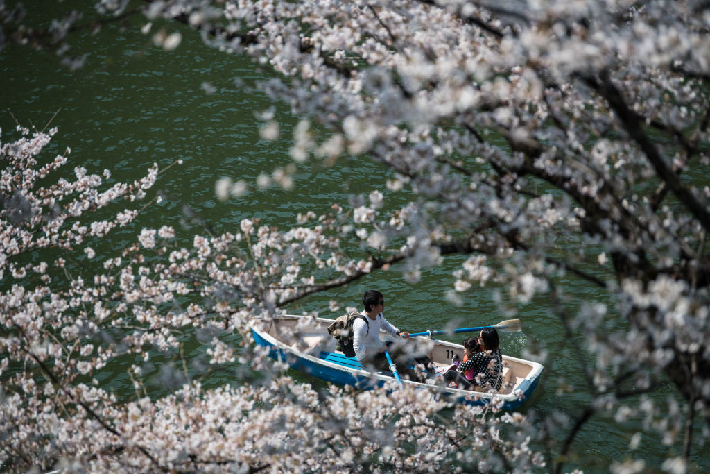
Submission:
MULTIPOLYGON (((300 372, 338 385, 352 385, 359 389, 382 387, 393 380, 392 372, 366 369, 355 357, 346 357, 336 350, 337 341, 328 333, 332 319, 312 316, 278 316, 276 318, 255 319, 250 326, 256 344, 268 350, 269 357, 286 362, 300 372)), ((393 340, 381 333, 382 340, 393 340)), ((413 356, 426 355, 435 363, 437 372, 449 367, 454 354, 464 355, 464 346, 444 340, 417 336, 405 341, 413 345, 413 356)), ((457 402, 486 405, 494 402, 501 409, 518 408, 530 399, 540 382, 542 365, 530 360, 503 355, 503 387, 498 393, 474 392, 471 390, 446 387, 444 384, 415 382, 402 379, 403 384, 417 388, 435 390, 457 402)))

